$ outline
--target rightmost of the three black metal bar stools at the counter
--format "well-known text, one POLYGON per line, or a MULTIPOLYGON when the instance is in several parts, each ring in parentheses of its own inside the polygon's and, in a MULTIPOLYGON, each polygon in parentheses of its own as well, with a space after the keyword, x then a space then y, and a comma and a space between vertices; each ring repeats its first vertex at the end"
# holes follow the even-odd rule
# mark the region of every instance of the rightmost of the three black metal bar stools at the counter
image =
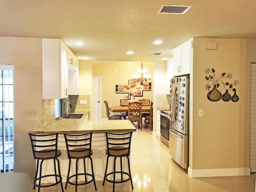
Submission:
POLYGON ((130 160, 129 160, 132 132, 128 132, 128 133, 105 132, 105 133, 106 133, 106 140, 107 140, 106 154, 108 155, 108 157, 107 157, 106 171, 105 171, 104 180, 103 180, 102 185, 104 185, 105 180, 113 183, 113 192, 114 192, 116 183, 123 183, 123 182, 130 180, 132 189, 133 189, 132 175, 131 175, 131 170, 130 170, 130 160), (114 157, 114 171, 107 174, 109 157, 114 157), (116 171, 116 158, 117 157, 120 157, 120 168, 121 168, 120 171, 116 171), (122 157, 127 158, 128 170, 129 170, 128 173, 123 171, 122 157), (116 181, 116 174, 121 175, 121 180, 116 181), (113 175, 113 180, 108 179, 108 176, 110 176, 110 175, 113 175), (127 175, 128 178, 124 179, 123 175, 127 175))

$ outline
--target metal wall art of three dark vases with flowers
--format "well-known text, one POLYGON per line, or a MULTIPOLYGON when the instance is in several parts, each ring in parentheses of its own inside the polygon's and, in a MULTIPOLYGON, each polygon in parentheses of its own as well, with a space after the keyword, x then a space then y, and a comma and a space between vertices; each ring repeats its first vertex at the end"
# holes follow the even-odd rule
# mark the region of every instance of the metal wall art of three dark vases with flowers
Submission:
POLYGON ((231 100, 232 102, 237 102, 239 100, 239 97, 236 95, 236 89, 234 88, 234 86, 238 85, 238 80, 234 80, 232 84, 227 82, 227 80, 225 81, 225 79, 230 80, 232 78, 232 74, 222 73, 220 77, 216 78, 214 68, 212 68, 212 70, 207 68, 204 73, 207 74, 205 78, 208 82, 205 88, 209 91, 207 94, 208 100, 219 101, 222 99, 223 101, 231 100), (218 90, 220 85, 223 85, 226 90, 224 94, 218 90), (234 92, 233 96, 230 95, 228 92, 229 90, 234 92))

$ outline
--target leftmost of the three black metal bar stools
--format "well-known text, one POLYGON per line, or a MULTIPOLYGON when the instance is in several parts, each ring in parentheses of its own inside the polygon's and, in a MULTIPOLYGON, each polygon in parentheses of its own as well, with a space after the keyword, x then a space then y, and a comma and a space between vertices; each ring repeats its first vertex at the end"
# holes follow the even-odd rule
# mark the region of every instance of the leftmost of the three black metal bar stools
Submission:
POLYGON ((58 133, 54 134, 29 134, 30 136, 30 141, 31 141, 31 146, 32 146, 32 151, 34 155, 34 159, 37 159, 36 162, 36 174, 35 174, 35 179, 34 179, 34 188, 38 187, 38 192, 40 192, 40 188, 44 187, 50 187, 54 186, 58 183, 60 183, 61 190, 63 190, 62 186, 62 178, 60 175, 60 162, 57 157, 61 155, 61 151, 57 149, 57 144, 58 144, 58 133), (54 173, 55 174, 47 174, 42 176, 42 164, 44 160, 54 160, 54 173), (40 162, 40 169, 39 169, 39 177, 38 176, 38 166, 39 166, 39 161, 40 162), (58 174, 56 172, 56 162, 58 164, 58 174), (41 179, 46 178, 46 177, 55 177, 55 183, 53 184, 41 184, 41 179), (59 178, 59 179, 58 179, 59 178), (36 182, 38 181, 38 184, 36 182))

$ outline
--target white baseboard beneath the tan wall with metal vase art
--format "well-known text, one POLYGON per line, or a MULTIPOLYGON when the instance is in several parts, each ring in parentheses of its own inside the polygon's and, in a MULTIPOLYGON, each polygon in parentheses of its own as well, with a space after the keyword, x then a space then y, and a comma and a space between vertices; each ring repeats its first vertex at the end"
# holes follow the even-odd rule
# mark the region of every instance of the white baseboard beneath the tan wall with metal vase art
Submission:
POLYGON ((222 177, 250 175, 250 168, 226 168, 226 169, 191 169, 188 168, 190 177, 222 177))

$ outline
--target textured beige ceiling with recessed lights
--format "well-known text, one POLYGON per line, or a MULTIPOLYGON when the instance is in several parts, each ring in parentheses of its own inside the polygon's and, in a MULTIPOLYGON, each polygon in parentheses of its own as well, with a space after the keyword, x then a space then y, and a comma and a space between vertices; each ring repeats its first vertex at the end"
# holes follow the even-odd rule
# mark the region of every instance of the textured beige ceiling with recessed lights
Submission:
POLYGON ((0 0, 0 36, 60 38, 92 61, 158 61, 193 37, 256 38, 255 21, 256 0, 0 0), (157 14, 162 5, 192 8, 157 14))

